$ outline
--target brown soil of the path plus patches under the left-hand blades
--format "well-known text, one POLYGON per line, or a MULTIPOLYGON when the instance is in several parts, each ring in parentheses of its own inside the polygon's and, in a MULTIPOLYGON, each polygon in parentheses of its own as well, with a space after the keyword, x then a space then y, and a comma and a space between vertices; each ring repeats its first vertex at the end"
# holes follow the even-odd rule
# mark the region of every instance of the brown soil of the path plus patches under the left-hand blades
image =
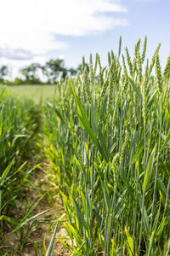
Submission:
MULTIPOLYGON (((26 231, 29 229, 30 224, 26 225, 23 229, 23 239, 20 239, 19 234, 13 234, 9 237, 7 243, 5 244, 6 252, 10 251, 14 246, 17 248, 14 256, 42 256, 45 255, 44 248, 48 249, 49 242, 54 233, 54 226, 56 221, 61 218, 64 213, 64 209, 60 203, 59 195, 54 195, 54 189, 51 187, 47 180, 47 175, 42 171, 37 171, 36 176, 33 177, 31 184, 29 186, 28 194, 30 201, 38 201, 41 195, 43 195, 48 191, 48 194, 45 195, 42 200, 38 203, 37 207, 33 210, 32 215, 36 215, 37 213, 43 212, 48 209, 47 212, 40 215, 31 226, 31 233, 29 236, 26 236, 26 231), (39 188, 39 189, 37 189, 39 188), (53 194, 53 195, 52 195, 53 194), (50 196, 51 195, 51 196, 50 196), (26 241, 24 241, 26 237, 26 241), (18 240, 18 241, 17 241, 18 240), (24 242, 19 242, 24 241, 24 242), (20 246, 23 243, 22 246, 20 246), (35 244, 37 244, 37 253, 35 250, 35 244), (19 247, 20 246, 20 247, 19 247)), ((59 194, 59 193, 58 193, 59 194)), ((23 202, 18 200, 18 205, 21 205, 23 202)), ((8 230, 9 231, 9 230, 8 230)), ((10 232, 8 232, 10 233, 10 232)), ((5 236, 8 236, 8 233, 5 236)), ((69 255, 68 250, 57 240, 57 237, 62 237, 65 241, 68 238, 65 228, 62 225, 59 225, 58 232, 55 236, 54 243, 54 256, 66 256, 69 255)))

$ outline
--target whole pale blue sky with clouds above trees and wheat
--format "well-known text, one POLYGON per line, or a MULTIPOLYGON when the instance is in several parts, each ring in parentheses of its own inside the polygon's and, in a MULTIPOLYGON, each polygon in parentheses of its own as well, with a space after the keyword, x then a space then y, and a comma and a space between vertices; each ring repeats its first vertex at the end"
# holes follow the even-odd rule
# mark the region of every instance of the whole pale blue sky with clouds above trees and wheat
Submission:
POLYGON ((32 62, 62 58, 77 67, 90 53, 122 52, 148 39, 151 58, 161 43, 161 64, 170 55, 170 0, 0 0, 0 66, 13 76, 32 62))

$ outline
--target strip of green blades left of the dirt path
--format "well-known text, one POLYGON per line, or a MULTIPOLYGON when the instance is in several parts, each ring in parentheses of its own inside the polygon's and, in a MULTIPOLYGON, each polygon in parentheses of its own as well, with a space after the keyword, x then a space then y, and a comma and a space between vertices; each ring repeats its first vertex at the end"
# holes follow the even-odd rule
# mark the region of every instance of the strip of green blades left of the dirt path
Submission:
POLYGON ((27 225, 29 233, 35 220, 32 212, 37 202, 29 201, 26 189, 40 160, 41 120, 41 108, 34 102, 18 100, 0 87, 0 255, 7 253, 5 245, 14 234, 17 242, 12 252, 20 250, 27 236, 23 228, 27 225))

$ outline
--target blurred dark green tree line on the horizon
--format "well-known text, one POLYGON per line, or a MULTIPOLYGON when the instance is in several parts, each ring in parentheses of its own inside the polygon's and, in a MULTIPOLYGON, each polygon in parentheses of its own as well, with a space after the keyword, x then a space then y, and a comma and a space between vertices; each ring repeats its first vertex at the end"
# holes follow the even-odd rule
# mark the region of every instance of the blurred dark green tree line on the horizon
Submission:
MULTIPOLYGON (((88 64, 86 63, 87 69, 88 64)), ((62 59, 51 59, 41 65, 39 63, 31 63, 31 65, 20 69, 20 76, 14 80, 8 79, 9 68, 3 65, 0 67, 0 83, 1 84, 56 84, 59 80, 65 81, 70 76, 76 76, 78 72, 82 72, 82 65, 77 68, 66 68, 65 61, 62 59), (44 82, 45 81, 45 82, 44 82)))

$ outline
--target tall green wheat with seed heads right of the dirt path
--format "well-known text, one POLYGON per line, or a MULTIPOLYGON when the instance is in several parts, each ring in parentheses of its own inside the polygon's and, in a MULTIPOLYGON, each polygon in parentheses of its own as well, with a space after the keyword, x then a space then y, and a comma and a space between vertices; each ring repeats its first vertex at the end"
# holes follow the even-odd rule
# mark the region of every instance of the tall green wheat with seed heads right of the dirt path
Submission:
POLYGON ((167 255, 170 58, 99 55, 59 86, 45 113, 45 152, 65 207, 71 255, 167 255))

